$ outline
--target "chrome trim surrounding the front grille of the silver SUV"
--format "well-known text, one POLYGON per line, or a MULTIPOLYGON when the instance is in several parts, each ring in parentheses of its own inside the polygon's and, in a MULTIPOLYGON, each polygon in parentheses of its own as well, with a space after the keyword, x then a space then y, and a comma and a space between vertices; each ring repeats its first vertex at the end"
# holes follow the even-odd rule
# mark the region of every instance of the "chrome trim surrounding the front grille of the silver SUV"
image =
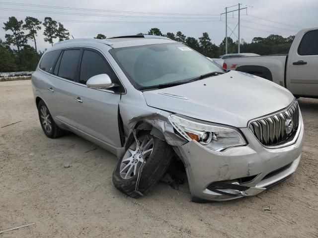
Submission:
POLYGON ((256 118, 256 119, 251 119, 251 120, 248 121, 248 123, 247 123, 248 130, 252 133, 252 135, 255 137, 255 139, 257 140, 257 142, 261 146, 263 146, 264 148, 267 148, 267 149, 279 149, 279 148, 284 148, 284 147, 287 147, 287 146, 290 146, 290 145, 293 145, 293 144, 296 143, 296 141, 298 139, 298 136, 299 136, 299 133, 300 133, 301 128, 302 128, 302 114, 301 114, 299 106, 298 106, 298 109, 299 109, 299 125, 298 125, 298 128, 297 128, 296 134, 295 134, 293 140, 291 140, 291 141, 288 141, 288 142, 286 142, 284 144, 280 144, 280 145, 272 145, 272 146, 264 145, 258 140, 258 138, 255 136, 255 134, 249 129, 249 125, 250 125, 251 122, 257 121, 257 120, 261 120, 261 119, 265 119, 265 118, 272 117, 272 116, 275 116, 277 114, 283 113, 286 110, 288 110, 296 101, 297 101, 297 99, 294 98, 293 102, 290 105, 288 105, 286 108, 284 108, 282 110, 279 110, 279 111, 277 111, 275 113, 268 114, 266 116, 262 116, 262 117, 259 117, 259 118, 256 118))

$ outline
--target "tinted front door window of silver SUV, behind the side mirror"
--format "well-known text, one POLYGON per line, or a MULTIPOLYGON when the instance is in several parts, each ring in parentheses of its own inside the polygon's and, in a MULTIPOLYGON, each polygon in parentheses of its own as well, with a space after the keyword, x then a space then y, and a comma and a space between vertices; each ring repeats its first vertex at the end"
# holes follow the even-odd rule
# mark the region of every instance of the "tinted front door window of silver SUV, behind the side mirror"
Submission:
POLYGON ((90 77, 102 73, 107 73, 112 81, 117 83, 117 77, 104 58, 97 52, 84 50, 80 65, 79 83, 86 84, 90 77))

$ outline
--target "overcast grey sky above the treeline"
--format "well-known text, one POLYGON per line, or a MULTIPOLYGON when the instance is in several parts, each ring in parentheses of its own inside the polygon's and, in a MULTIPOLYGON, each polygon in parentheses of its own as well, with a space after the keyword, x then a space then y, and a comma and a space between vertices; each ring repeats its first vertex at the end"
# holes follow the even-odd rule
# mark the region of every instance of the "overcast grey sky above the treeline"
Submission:
MULTIPOLYGON (((318 0, 242 0, 240 3, 241 7, 247 7, 248 15, 246 10, 241 10, 240 27, 240 38, 246 42, 250 42, 253 37, 266 37, 269 34, 287 37, 296 34, 301 28, 318 26, 318 0)), ((158 27, 162 33, 181 31, 186 36, 195 38, 200 37, 202 32, 208 32, 212 42, 219 45, 225 37, 225 15, 220 21, 220 13, 225 11, 226 6, 235 4, 238 1, 0 0, 0 38, 5 40, 2 27, 9 16, 21 19, 26 16, 39 19, 50 16, 64 24, 75 38, 92 38, 98 33, 107 37, 134 35, 139 32, 147 33, 150 28, 158 27)), ((234 9, 237 6, 229 8, 234 9)), ((237 13, 234 16, 233 13, 228 15, 229 27, 232 29, 238 23, 237 13)), ((237 30, 238 28, 231 36, 234 40, 237 40, 237 30)), ((42 33, 43 26, 37 37, 38 50, 50 47, 49 43, 44 42, 42 33)), ((230 29, 228 34, 231 34, 230 29)), ((33 42, 29 44, 33 46, 33 42)))

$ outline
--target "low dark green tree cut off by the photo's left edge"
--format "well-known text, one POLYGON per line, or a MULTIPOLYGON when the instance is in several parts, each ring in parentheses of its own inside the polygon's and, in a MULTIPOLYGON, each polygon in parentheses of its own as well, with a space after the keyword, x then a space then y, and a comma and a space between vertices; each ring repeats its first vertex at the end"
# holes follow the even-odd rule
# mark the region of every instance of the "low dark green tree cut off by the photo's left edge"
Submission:
POLYGON ((16 71, 14 53, 0 39, 0 72, 16 71))

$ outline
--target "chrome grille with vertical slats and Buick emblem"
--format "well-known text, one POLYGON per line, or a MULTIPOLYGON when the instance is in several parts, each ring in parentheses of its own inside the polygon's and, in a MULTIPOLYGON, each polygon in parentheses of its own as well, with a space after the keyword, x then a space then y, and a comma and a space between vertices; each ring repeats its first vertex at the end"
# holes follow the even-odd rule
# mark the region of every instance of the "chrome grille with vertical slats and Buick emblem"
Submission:
POLYGON ((266 146, 284 144, 293 139, 299 126, 299 106, 294 102, 285 110, 250 121, 248 128, 266 146))

